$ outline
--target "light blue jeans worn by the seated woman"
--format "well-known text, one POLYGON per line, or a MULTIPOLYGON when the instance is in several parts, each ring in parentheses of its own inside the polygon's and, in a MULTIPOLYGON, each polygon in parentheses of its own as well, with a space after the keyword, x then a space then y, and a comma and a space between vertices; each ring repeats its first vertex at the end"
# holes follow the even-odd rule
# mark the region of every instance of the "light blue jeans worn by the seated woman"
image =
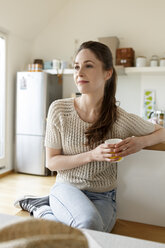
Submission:
POLYGON ((50 209, 42 214, 44 219, 104 232, 110 232, 116 222, 116 190, 97 193, 55 183, 49 201, 50 209))

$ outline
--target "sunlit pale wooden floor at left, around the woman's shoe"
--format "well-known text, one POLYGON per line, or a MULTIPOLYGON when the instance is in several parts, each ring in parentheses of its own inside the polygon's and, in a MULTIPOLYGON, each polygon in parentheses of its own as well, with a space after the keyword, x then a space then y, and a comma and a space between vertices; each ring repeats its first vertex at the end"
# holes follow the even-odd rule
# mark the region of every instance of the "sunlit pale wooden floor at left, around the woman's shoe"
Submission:
POLYGON ((12 173, 0 178, 0 213, 28 216, 25 211, 20 211, 14 207, 14 201, 23 195, 47 195, 54 183, 55 176, 12 173))

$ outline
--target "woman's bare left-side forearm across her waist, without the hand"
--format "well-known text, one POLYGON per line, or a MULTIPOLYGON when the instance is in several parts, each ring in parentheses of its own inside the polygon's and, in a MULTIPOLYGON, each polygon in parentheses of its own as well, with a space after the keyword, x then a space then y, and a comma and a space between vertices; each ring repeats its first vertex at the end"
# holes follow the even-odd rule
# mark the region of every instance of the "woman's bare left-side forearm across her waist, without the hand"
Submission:
POLYGON ((92 161, 92 153, 84 152, 76 155, 56 155, 47 159, 46 167, 51 171, 69 170, 92 161))

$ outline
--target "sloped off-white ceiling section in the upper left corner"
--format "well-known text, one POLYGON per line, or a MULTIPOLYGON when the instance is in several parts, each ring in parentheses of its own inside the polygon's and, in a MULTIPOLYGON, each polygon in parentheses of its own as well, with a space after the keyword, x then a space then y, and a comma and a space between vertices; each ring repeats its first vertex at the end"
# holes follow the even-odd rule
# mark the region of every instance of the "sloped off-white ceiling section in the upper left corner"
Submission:
POLYGON ((0 31, 33 40, 70 0, 0 0, 0 31))

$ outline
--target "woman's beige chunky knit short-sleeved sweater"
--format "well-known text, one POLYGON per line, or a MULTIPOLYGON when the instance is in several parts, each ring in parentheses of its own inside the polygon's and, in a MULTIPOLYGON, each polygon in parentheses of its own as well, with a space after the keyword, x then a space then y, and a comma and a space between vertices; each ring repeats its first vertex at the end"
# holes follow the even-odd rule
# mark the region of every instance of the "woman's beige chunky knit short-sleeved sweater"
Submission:
MULTIPOLYGON (((154 125, 137 115, 129 114, 118 107, 118 120, 108 138, 125 139, 142 136, 154 131, 154 125)), ((89 151, 85 146, 84 122, 75 110, 74 98, 54 101, 48 111, 45 146, 62 149, 64 155, 74 155, 89 151)), ((85 156, 85 155, 84 155, 85 156)), ((80 189, 105 192, 117 187, 117 163, 94 161, 82 166, 59 170, 56 182, 70 183, 80 189)))

